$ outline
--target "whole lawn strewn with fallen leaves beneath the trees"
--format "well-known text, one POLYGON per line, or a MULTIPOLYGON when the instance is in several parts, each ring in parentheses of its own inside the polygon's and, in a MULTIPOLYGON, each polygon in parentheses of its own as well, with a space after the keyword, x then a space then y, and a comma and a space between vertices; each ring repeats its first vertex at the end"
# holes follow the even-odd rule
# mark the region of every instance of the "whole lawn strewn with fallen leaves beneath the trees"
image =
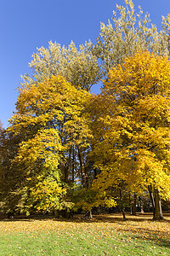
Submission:
POLYGON ((0 255, 170 255, 170 215, 0 221, 0 255))

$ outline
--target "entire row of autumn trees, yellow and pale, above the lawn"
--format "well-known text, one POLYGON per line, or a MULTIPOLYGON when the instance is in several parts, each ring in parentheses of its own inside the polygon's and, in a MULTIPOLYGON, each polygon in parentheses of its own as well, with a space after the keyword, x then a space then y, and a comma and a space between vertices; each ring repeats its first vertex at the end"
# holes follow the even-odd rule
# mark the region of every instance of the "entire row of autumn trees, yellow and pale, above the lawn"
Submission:
POLYGON ((131 0, 99 38, 32 55, 7 130, 0 125, 0 208, 59 211, 170 200, 170 15, 158 32, 131 0), (91 86, 103 82, 101 92, 91 86))

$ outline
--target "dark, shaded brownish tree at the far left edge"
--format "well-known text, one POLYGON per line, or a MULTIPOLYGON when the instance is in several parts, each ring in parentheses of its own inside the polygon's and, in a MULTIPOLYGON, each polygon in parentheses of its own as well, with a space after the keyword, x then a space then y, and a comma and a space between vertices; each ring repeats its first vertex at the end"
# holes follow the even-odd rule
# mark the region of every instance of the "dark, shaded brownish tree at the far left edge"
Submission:
POLYGON ((3 131, 0 137, 2 161, 0 165, 0 208, 1 212, 17 211, 20 200, 20 183, 23 182, 23 173, 12 164, 20 143, 20 136, 3 131))

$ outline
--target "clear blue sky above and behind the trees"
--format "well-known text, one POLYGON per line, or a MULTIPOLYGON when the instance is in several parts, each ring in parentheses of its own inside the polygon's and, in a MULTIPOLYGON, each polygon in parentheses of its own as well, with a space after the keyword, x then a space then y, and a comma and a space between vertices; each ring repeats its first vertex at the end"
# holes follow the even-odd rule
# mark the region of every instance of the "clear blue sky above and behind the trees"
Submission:
MULTIPOLYGON (((99 36, 116 3, 123 0, 0 0, 0 119, 3 127, 14 111, 20 75, 30 73, 28 62, 37 48, 52 40, 78 46, 99 36)), ((161 15, 170 13, 170 0, 133 0, 161 28, 161 15)), ((99 92, 94 85, 93 92, 99 92)))

